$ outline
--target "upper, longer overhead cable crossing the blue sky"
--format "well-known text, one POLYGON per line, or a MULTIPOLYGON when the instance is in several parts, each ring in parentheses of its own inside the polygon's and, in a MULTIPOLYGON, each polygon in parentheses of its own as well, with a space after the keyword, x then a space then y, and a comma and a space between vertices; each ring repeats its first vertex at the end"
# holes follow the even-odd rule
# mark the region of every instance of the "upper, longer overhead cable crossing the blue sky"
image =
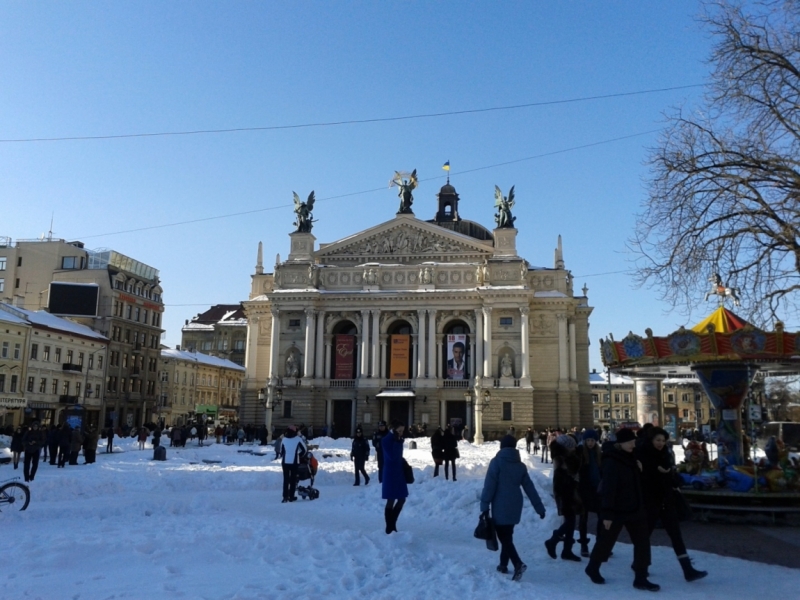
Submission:
POLYGON ((639 90, 636 92, 619 92, 616 94, 603 94, 599 96, 584 96, 581 98, 569 98, 565 100, 547 100, 544 102, 529 102, 526 104, 512 104, 510 106, 493 106, 489 108, 473 108, 466 110, 453 110, 436 113, 421 113, 417 115, 404 115, 397 117, 377 117, 374 119, 351 119, 346 121, 323 121, 319 123, 299 123, 292 125, 269 125, 265 127, 233 127, 230 129, 195 129, 187 131, 158 131, 147 133, 123 133, 109 135, 78 135, 65 137, 42 137, 42 138, 15 138, 0 139, 0 143, 29 143, 29 142, 75 142, 89 140, 118 140, 126 138, 148 138, 148 137, 167 137, 177 135, 206 135, 213 133, 242 133, 247 131, 280 131, 284 129, 308 129, 312 127, 334 127, 340 125, 362 125, 365 123, 387 123, 391 121, 410 121, 413 119, 432 119, 437 117, 450 117, 456 115, 469 115, 477 113, 497 112, 503 110, 517 110, 520 108, 533 108, 538 106, 554 106, 558 104, 572 104, 576 102, 589 102, 592 100, 606 100, 608 98, 623 98, 626 96, 641 96, 644 94, 656 94, 661 92, 672 92, 690 88, 703 87, 704 84, 695 83, 691 85, 679 85, 667 88, 654 88, 650 90, 639 90))

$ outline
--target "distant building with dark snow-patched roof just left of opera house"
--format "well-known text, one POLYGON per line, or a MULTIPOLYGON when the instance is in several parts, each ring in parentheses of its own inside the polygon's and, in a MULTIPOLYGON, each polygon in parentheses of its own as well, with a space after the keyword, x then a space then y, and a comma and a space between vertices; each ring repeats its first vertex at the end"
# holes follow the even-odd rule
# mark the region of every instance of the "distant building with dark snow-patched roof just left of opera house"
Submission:
POLYGON ((215 304, 187 320, 181 348, 227 359, 244 366, 247 318, 240 304, 215 304))

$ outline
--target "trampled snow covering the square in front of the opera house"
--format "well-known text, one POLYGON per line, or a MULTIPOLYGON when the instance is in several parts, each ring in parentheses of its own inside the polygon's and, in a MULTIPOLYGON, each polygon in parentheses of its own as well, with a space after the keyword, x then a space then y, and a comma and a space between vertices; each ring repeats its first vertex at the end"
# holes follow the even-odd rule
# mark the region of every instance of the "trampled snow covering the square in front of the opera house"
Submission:
MULTIPOLYGON (((630 546, 618 545, 603 567, 605 586, 583 573, 586 559, 578 564, 546 555, 543 542, 560 518, 550 496, 550 465, 538 458, 529 467, 547 517, 540 520, 526 502, 515 531, 528 570, 518 583, 495 571, 499 553, 487 551, 472 531, 497 443, 462 442, 453 482, 432 478, 429 442, 416 440, 418 449, 405 451, 416 483, 399 533, 386 535, 377 465, 367 465, 375 474, 369 486, 353 487, 349 440, 313 440, 320 444, 321 496, 289 504, 280 501, 282 476, 271 449, 245 446, 265 452, 259 456, 238 446, 190 445, 168 448, 167 462, 153 462, 149 444, 139 451, 134 440, 117 442, 115 452, 101 451, 94 465, 41 464, 28 510, 0 513, 3 598, 583 600, 644 594, 631 587, 630 546)), ((22 476, 22 465, 18 471, 0 466, 0 481, 14 476, 22 476)), ((711 574, 689 584, 672 550, 653 548, 651 579, 662 594, 705 600, 797 593, 796 570, 701 552, 693 557, 711 574)))

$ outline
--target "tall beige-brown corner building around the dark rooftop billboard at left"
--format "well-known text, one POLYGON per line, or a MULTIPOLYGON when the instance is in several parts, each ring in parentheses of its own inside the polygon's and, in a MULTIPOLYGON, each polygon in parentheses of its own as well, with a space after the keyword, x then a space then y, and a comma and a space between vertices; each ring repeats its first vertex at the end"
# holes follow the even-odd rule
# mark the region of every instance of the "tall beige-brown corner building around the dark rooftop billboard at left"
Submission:
MULTIPOLYGON (((6 282, 0 294, 21 308, 46 309, 54 300, 52 283, 74 284, 75 293, 94 290, 90 310, 52 311, 84 324, 109 339, 102 425, 132 427, 152 422, 158 403, 158 356, 163 289, 158 270, 114 250, 86 250, 63 239, 0 243, 6 282), (3 260, 5 259, 5 260, 3 260), (13 269, 11 267, 13 265, 13 269), (87 314, 91 313, 93 314, 87 314)), ((69 286, 62 294, 69 295, 69 286)), ((67 300, 69 297, 62 298, 67 300)), ((63 304, 63 303, 62 303, 63 304)), ((86 303, 84 302, 84 305, 86 303)))

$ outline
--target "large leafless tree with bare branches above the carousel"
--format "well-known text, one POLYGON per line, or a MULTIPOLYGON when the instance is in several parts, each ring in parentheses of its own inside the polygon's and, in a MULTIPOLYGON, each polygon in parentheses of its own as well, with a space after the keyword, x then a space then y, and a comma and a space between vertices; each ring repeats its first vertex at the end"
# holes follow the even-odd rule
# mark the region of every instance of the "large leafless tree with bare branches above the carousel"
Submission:
POLYGON ((650 155, 629 244, 636 280, 690 313, 708 278, 756 323, 800 307, 800 2, 706 5, 713 67, 701 110, 677 111, 650 155))

